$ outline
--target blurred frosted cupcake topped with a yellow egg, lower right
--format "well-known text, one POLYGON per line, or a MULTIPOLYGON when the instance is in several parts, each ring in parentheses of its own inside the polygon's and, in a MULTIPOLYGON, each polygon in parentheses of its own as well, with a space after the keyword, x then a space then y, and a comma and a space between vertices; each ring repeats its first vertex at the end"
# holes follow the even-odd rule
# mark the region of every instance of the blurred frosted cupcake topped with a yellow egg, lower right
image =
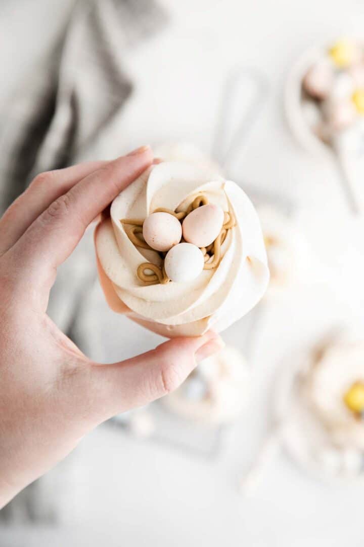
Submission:
POLYGON ((277 391, 283 445, 297 463, 321 478, 361 475, 364 343, 325 341, 297 363, 291 381, 286 370, 277 391))

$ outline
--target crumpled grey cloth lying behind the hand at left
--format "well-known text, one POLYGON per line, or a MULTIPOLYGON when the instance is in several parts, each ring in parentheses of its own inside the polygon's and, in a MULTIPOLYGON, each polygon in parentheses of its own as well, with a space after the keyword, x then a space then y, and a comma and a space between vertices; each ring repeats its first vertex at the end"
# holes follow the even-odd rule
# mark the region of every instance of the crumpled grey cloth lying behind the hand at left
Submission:
MULTIPOLYGON (((164 11, 152 0, 75 3, 56 43, 32 67, 0 113, 0 214, 35 174, 120 154, 115 138, 108 135, 121 128, 123 107, 133 89, 123 68, 124 55, 165 21, 164 11)), ((87 347, 87 335, 77 322, 94 280, 92 230, 87 230, 59 268, 48 312, 76 343, 80 334, 82 350, 91 356, 97 348, 87 347)), ((97 317, 97 310, 93 312, 97 317)), ((43 492, 37 483, 33 485, 33 504, 37 488, 43 492)), ((31 507, 29 491, 21 496, 31 507)), ((3 514, 23 513, 11 511, 10 505, 3 514)), ((41 519, 41 510, 38 513, 33 507, 33 514, 41 519)), ((46 520, 53 514, 48 511, 46 520)))

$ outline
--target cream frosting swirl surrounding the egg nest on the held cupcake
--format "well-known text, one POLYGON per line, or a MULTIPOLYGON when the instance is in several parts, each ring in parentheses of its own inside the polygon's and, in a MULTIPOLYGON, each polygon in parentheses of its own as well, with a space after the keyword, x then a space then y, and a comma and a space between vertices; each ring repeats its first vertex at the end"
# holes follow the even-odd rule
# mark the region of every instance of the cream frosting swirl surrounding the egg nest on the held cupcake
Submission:
POLYGON ((222 331, 245 315, 264 294, 269 278, 258 216, 234 182, 196 165, 163 162, 152 166, 112 202, 110 219, 99 224, 96 252, 100 282, 115 311, 166 337, 222 331), (137 248, 121 219, 145 219, 159 207, 186 210, 196 195, 236 218, 222 246, 222 260, 187 283, 145 286, 136 275, 146 260, 160 265, 154 251, 137 248))

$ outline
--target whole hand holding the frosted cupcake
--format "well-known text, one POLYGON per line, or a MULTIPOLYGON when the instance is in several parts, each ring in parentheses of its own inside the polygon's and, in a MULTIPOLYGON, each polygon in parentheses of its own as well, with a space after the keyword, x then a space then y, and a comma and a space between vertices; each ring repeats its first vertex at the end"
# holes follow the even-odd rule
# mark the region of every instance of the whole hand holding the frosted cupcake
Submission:
POLYGON ((152 162, 142 147, 114 161, 41 173, 0 219, 0 508, 89 430, 169 393, 223 345, 210 332, 100 365, 46 315, 57 266, 152 162))

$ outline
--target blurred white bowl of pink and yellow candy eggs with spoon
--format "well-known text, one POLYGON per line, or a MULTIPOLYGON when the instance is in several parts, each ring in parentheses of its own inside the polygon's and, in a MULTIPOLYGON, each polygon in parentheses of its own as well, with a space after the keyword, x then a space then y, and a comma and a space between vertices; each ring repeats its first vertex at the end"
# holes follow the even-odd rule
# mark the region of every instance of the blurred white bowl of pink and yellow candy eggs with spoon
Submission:
POLYGON ((333 162, 351 212, 364 210, 364 40, 343 38, 302 55, 285 89, 291 130, 333 162))

